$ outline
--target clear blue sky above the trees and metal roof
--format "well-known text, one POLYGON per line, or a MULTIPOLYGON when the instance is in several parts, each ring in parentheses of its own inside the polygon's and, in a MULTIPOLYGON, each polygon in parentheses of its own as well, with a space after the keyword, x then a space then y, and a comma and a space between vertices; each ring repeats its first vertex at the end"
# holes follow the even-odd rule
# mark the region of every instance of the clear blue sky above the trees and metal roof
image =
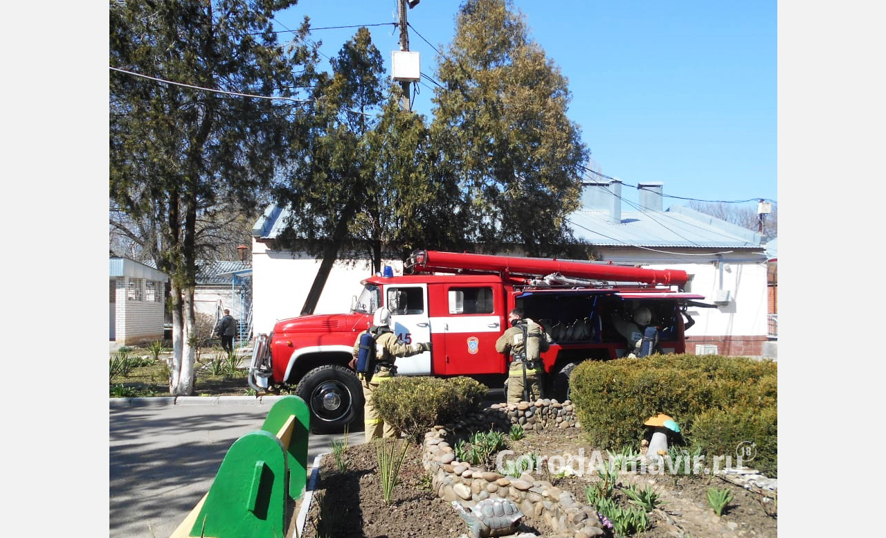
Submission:
MULTIPOLYGON (((460 4, 421 0, 408 10, 409 49, 421 53, 423 74, 436 78, 437 53, 422 37, 445 52, 460 4)), ((515 0, 514 7, 568 78, 569 116, 597 170, 631 185, 663 182, 665 195, 778 200, 774 0, 515 0)), ((395 0, 300 0, 276 19, 295 28, 305 15, 315 28, 397 20, 395 0)), ((399 32, 369 29, 390 66, 399 32)), ((312 38, 333 57, 354 32, 317 29, 312 38)), ((423 80, 414 105, 429 119, 433 88, 423 80)), ((636 200, 634 189, 623 193, 636 200)))

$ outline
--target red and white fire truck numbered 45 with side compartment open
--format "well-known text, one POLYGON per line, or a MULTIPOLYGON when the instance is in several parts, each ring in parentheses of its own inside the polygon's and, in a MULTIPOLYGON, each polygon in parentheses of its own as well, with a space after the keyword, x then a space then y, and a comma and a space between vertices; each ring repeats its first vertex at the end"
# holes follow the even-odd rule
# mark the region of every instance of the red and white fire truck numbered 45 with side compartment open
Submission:
POLYGON ((295 386, 311 409, 312 429, 340 431, 363 406, 360 381, 347 367, 354 340, 376 308, 386 306, 401 340, 432 344, 431 351, 398 359, 399 375, 470 376, 498 387, 508 357, 495 352, 495 340, 507 329, 509 310, 519 307, 551 337, 542 354, 545 394, 563 400, 577 363, 625 354, 613 316, 630 319, 636 308, 649 308, 660 351, 684 353, 683 317, 703 299, 682 292, 685 271, 600 262, 419 251, 403 272, 365 279, 347 314, 284 319, 260 334, 250 386, 260 393, 295 386))

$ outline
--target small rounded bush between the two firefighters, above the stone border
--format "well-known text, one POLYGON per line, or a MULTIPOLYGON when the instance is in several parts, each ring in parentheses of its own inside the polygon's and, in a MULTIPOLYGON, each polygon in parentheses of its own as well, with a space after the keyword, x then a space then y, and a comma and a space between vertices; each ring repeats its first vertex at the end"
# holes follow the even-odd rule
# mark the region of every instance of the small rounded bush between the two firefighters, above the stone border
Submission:
POLYGON ((378 415, 418 443, 434 425, 478 411, 488 389, 471 378, 398 376, 372 395, 378 415))

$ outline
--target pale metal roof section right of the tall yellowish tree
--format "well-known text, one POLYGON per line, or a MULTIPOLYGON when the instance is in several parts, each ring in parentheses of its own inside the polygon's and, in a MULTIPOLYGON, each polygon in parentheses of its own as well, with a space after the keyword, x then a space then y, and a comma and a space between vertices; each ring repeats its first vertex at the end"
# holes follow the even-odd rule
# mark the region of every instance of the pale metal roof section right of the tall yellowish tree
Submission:
POLYGON ((688 207, 622 211, 619 222, 612 222, 609 211, 579 209, 568 223, 576 238, 596 246, 759 249, 763 240, 761 234, 688 207))

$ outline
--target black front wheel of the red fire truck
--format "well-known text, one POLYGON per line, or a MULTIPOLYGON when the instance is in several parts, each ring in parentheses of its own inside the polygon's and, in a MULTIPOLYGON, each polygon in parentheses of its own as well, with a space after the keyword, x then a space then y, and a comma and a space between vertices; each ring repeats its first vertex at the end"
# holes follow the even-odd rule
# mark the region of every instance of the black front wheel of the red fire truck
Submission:
POLYGON ((307 372, 295 387, 295 394, 311 411, 311 431, 314 433, 344 432, 362 414, 360 380, 352 370, 338 364, 326 364, 307 372))

